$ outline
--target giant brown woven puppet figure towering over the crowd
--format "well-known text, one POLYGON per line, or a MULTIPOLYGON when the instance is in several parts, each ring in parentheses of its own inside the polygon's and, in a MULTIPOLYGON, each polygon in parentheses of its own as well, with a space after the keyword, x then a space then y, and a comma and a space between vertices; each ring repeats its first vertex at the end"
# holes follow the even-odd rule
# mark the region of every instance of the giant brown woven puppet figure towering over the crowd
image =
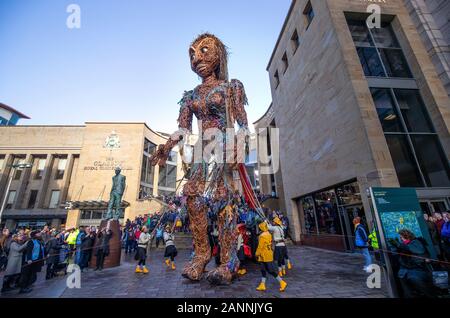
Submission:
MULTIPOLYGON (((201 78, 202 83, 184 93, 179 102, 181 106, 178 117, 179 131, 174 133, 165 145, 158 147, 152 157, 153 165, 165 165, 170 150, 192 131, 194 115, 201 131, 216 129, 223 141, 226 140, 226 129, 234 128, 235 122, 239 125, 238 136, 248 133, 247 114, 244 109, 247 98, 244 86, 238 80, 228 80, 225 45, 214 35, 205 33, 198 36, 191 44, 189 57, 191 68, 201 78)), ((206 146, 205 141, 201 140, 200 142, 206 146)), ((222 149, 224 148, 225 143, 223 143, 222 149)), ((236 149, 234 146, 233 151, 236 152, 236 149)), ((236 159, 236 153, 234 156, 236 159)), ((187 174, 188 181, 184 185, 183 194, 187 197, 186 204, 194 241, 194 257, 184 267, 183 276, 193 281, 200 280, 205 266, 211 258, 207 233, 208 207, 205 202, 205 194, 208 192, 211 193, 216 206, 220 206, 217 212, 220 266, 209 272, 207 279, 212 284, 227 284, 235 277, 239 267, 239 260, 236 257, 237 210, 233 204, 236 187, 232 177, 233 170, 237 169, 237 165, 228 163, 220 165, 217 162, 218 160, 211 162, 205 159, 202 159, 201 162, 194 162, 187 174), (211 165, 214 165, 215 173, 210 173, 211 165)), ((229 161, 224 159, 223 162, 229 161)))

